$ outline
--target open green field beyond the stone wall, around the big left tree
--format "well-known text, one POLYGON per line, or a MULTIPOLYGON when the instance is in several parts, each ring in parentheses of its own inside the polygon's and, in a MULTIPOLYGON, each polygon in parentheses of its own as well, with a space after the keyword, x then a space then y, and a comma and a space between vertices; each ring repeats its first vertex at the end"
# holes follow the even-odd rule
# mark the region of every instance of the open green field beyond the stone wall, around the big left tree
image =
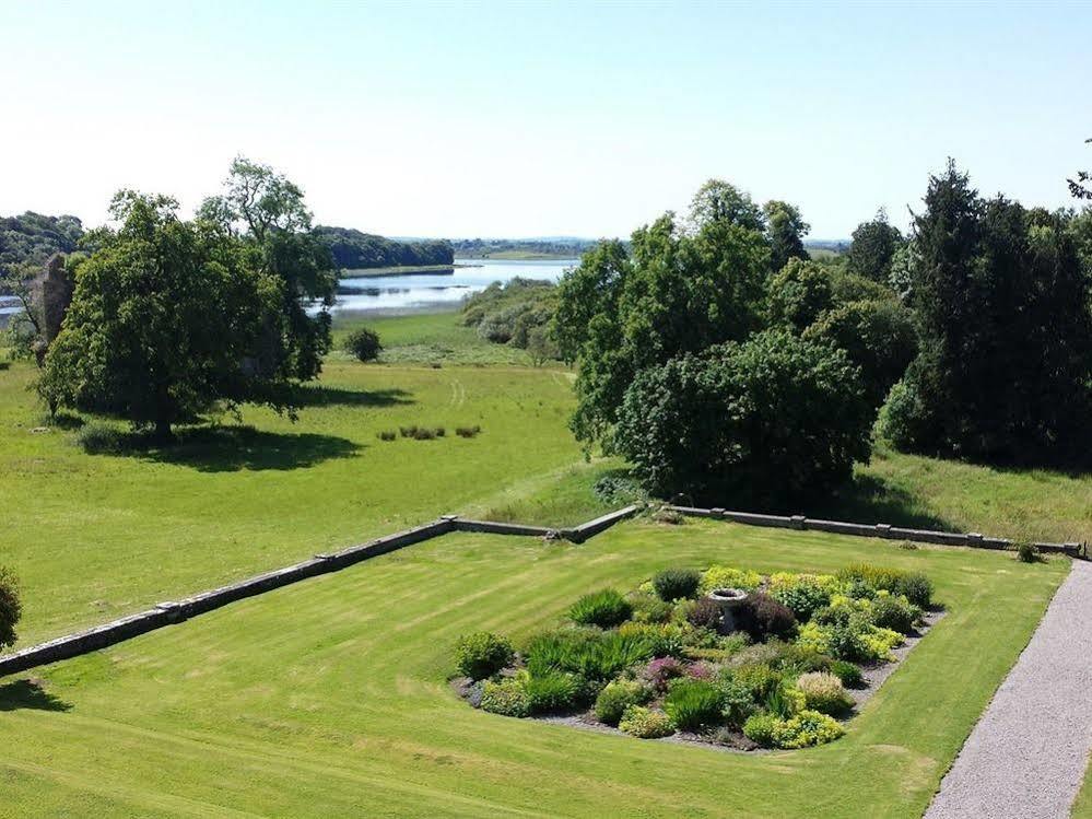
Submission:
MULTIPOLYGON (((198 432, 164 452, 87 455, 32 432, 33 366, 0 372, 0 563, 21 578, 22 645, 448 512, 543 492, 580 451, 554 370, 330 361, 300 422, 247 410, 250 432, 198 432), (380 430, 444 425, 436 441, 380 430), (457 425, 482 428, 472 440, 457 425)), ((590 493, 542 508, 577 523, 590 493)), ((535 515, 533 504, 525 505, 535 515)))

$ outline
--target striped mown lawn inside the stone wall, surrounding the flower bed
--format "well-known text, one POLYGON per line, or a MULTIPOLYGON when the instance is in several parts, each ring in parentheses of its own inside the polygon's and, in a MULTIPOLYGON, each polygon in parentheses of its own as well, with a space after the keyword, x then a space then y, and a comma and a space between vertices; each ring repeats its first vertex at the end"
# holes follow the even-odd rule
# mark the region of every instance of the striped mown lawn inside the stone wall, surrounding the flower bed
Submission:
MULTIPOLYGON (((278 519, 281 519, 278 517, 278 519)), ((449 536, 0 688, 12 816, 917 817, 1068 564, 727 524, 582 547, 449 536), (948 615, 830 746, 741 756, 475 712, 466 631, 517 637, 669 564, 923 570, 948 615)))

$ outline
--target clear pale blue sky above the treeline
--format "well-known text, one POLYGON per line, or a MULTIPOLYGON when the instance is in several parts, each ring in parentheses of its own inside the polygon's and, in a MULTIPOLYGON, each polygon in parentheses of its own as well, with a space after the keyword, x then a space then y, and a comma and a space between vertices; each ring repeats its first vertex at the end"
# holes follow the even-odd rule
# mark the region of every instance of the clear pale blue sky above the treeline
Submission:
POLYGON ((0 0, 0 214, 191 209, 245 153, 388 235, 627 235, 721 176, 832 238, 948 156, 1047 206, 1092 166, 1089 3, 0 0))

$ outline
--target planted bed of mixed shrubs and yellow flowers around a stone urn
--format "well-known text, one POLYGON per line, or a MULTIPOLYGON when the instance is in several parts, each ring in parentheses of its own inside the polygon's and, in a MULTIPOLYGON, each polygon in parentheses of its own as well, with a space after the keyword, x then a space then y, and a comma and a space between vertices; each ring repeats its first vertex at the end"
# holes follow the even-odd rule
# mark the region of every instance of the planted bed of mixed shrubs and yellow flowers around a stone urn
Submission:
POLYGON ((670 568, 576 600, 516 652, 465 635, 455 682, 473 706, 565 717, 639 738, 743 750, 837 739, 868 676, 927 624, 929 580, 868 564, 836 575, 670 568))

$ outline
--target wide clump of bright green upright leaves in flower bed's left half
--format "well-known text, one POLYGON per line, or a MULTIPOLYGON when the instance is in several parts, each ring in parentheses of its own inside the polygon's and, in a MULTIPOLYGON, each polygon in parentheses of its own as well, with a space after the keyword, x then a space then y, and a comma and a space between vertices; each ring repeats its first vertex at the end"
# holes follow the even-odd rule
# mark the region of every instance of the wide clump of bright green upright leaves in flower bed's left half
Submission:
POLYGON ((526 651, 532 676, 568 671, 591 683, 602 683, 651 656, 649 641, 615 631, 557 631, 535 637, 526 651))

